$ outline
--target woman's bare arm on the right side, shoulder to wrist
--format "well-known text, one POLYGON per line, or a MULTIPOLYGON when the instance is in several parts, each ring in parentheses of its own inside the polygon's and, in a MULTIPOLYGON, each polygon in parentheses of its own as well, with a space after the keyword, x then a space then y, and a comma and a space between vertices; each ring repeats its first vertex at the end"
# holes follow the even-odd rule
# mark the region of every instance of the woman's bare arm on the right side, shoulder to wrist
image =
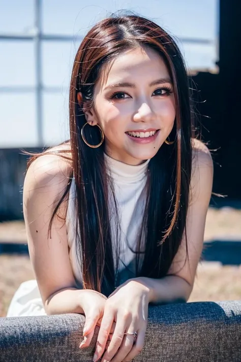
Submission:
POLYGON ((194 284, 203 247, 206 213, 213 186, 213 161, 206 146, 195 141, 190 204, 187 214, 188 260, 185 235, 171 267, 162 279, 137 278, 149 289, 150 302, 187 301, 194 284))

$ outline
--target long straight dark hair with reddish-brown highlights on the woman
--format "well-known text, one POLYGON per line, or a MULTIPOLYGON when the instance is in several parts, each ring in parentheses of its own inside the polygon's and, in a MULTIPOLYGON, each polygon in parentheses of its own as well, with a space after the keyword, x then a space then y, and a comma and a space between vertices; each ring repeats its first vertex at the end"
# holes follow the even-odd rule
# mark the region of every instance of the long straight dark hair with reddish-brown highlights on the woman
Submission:
MULTIPOLYGON (((103 65, 114 60, 118 54, 140 46, 156 50, 164 60, 173 82, 176 117, 169 136, 170 140, 175 140, 174 144, 163 144, 148 163, 146 205, 137 249, 133 250, 137 255, 136 276, 165 276, 183 234, 186 234, 192 167, 191 140, 194 134, 185 61, 175 41, 155 22, 133 13, 119 16, 112 14, 93 26, 82 40, 74 60, 69 97, 73 168, 70 176, 76 186, 77 257, 83 276, 83 288, 94 289, 105 295, 109 295, 116 287, 117 275, 110 228, 110 192, 116 216, 118 205, 112 179, 106 172, 105 142, 98 148, 90 148, 81 138, 80 130, 86 119, 83 108, 78 104, 77 93, 82 93, 83 102, 95 106, 95 84, 102 74, 103 65), (140 265, 140 241, 143 235, 145 252, 140 265)), ((98 144, 98 127, 88 128, 91 128, 91 134, 85 136, 88 142, 98 144)), ((61 152, 63 151, 59 152, 60 156, 67 157, 61 152)), ((46 154, 46 151, 44 153, 46 154)), ((48 153, 51 153, 51 149, 48 153)), ((35 154, 29 159, 27 168, 42 154, 35 154)), ((70 183, 62 198, 57 201, 49 230, 59 206, 68 196, 69 189, 70 183)), ((118 217, 116 220, 116 228, 119 230, 118 217)), ((119 233, 116 235, 118 244, 119 233)))

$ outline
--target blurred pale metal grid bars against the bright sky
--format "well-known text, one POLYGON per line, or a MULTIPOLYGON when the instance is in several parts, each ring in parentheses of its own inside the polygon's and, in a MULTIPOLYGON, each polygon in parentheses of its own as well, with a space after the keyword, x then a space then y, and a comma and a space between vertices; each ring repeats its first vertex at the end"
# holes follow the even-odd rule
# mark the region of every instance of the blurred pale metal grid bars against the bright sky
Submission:
MULTIPOLYGON (((42 81, 42 41, 81 41, 82 37, 73 37, 66 35, 51 35, 42 33, 42 0, 35 1, 35 22, 34 29, 32 34, 4 34, 0 33, 0 40, 2 41, 12 41, 12 40, 21 40, 21 41, 34 41, 35 44, 35 72, 36 72, 36 86, 35 87, 17 87, 17 90, 23 93, 26 92, 35 92, 36 94, 36 107, 37 107, 37 134, 38 134, 38 147, 43 147, 43 101, 42 94, 44 90, 50 92, 58 92, 57 87, 44 87, 42 81)), ((214 44, 214 41, 208 39, 194 39, 194 38, 179 38, 183 43, 195 43, 195 44, 214 44)), ((16 87, 0 87, 0 92, 13 92, 16 91, 16 87)))

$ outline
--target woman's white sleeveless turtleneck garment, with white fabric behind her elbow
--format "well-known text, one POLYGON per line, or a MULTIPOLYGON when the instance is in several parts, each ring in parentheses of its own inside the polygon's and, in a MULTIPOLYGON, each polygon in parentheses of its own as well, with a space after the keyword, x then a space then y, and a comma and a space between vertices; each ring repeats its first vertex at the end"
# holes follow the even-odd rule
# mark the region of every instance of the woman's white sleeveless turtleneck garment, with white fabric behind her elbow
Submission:
MULTIPOLYGON (((118 285, 131 277, 135 277, 135 257, 128 245, 135 250, 137 235, 142 224, 146 194, 146 172, 149 159, 139 165, 130 165, 117 161, 104 154, 109 173, 113 178, 115 198, 119 208, 120 217, 120 255, 118 262, 118 285), (128 267, 126 267, 128 266, 128 267)), ((111 200, 111 198, 109 199, 111 200)), ((66 216, 67 240, 69 245, 69 258, 78 288, 82 287, 82 274, 76 257, 76 203, 75 182, 72 180, 66 216)), ((113 204, 109 201, 109 209, 113 204)), ((115 232, 115 220, 110 218, 111 234, 115 232)), ((114 248, 114 245, 113 245, 114 248)), ((113 253, 115 254, 115 253, 113 253)), ((114 263, 116 265, 116 260, 114 263)), ((15 292, 7 317, 46 315, 42 298, 36 280, 23 282, 15 292)))

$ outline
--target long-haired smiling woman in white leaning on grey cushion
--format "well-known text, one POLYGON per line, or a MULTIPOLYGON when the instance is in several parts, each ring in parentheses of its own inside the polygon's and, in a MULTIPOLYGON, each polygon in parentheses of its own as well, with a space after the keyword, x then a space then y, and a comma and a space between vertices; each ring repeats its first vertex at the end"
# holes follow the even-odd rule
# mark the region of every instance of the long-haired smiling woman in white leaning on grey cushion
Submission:
POLYGON ((135 15, 98 22, 77 51, 69 141, 28 161, 23 207, 36 280, 10 316, 82 313, 94 361, 130 361, 148 304, 187 301, 213 163, 194 137, 174 40, 135 15))

